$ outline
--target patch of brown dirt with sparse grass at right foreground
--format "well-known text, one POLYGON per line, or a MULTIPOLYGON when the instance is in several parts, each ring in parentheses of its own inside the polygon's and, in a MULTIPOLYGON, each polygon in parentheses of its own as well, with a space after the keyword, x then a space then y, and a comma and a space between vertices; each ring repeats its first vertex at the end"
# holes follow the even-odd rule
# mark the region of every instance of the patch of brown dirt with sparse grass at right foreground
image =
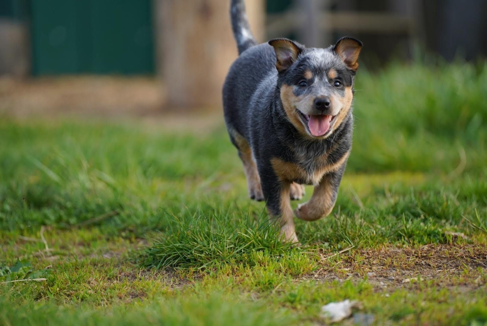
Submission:
POLYGON ((377 288, 411 287, 427 280, 432 285, 468 289, 487 283, 485 245, 431 244, 419 248, 383 247, 353 250, 341 260, 323 255, 321 267, 306 279, 346 280, 367 276, 377 288))

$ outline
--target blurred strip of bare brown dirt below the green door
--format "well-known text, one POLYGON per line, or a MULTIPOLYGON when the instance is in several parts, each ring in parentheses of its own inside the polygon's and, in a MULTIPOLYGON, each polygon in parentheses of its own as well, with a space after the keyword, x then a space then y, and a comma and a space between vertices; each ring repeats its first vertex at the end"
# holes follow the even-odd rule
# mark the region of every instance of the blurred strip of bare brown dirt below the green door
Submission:
POLYGON ((155 113, 162 86, 150 78, 106 76, 0 79, 0 112, 14 117, 79 114, 95 116, 155 113))

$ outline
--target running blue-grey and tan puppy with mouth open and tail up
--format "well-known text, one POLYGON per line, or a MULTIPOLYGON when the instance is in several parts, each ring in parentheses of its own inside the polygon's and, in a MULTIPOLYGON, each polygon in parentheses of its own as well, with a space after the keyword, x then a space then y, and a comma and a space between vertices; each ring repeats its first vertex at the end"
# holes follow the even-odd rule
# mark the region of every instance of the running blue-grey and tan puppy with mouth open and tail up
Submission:
POLYGON ((330 214, 352 146, 352 101, 362 42, 342 38, 325 49, 288 39, 257 44, 244 1, 231 0, 240 56, 223 86, 225 122, 244 163, 251 199, 265 200, 281 234, 298 243, 294 216, 315 221, 330 214), (313 196, 293 212, 302 184, 313 196))

